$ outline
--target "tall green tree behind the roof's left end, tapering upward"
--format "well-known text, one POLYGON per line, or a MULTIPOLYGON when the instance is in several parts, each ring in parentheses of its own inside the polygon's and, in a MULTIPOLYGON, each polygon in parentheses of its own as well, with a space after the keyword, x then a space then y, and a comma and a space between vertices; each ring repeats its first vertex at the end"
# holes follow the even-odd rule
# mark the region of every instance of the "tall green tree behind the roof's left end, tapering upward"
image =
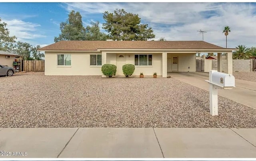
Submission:
POLYGON ((60 23, 60 31, 59 36, 54 38, 54 42, 62 40, 85 40, 85 28, 80 13, 72 10, 68 15, 68 20, 60 23))

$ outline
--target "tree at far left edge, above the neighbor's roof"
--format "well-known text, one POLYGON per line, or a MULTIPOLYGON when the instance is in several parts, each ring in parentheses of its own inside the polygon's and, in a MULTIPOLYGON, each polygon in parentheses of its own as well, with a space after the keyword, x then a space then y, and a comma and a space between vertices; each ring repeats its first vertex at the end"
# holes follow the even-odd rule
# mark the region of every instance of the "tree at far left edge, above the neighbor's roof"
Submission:
POLYGON ((13 43, 15 43, 16 37, 10 36, 7 24, 2 22, 0 18, 0 50, 11 52, 13 43))

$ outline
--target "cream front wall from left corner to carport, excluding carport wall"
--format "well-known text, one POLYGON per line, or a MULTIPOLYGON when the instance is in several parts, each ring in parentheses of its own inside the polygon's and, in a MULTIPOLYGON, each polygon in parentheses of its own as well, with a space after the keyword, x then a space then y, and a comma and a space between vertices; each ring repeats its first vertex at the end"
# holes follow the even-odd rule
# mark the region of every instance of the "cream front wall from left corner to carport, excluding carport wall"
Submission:
MULTIPOLYGON (((102 75, 101 66, 90 66, 90 54, 101 54, 101 52, 45 52, 45 75, 102 75), (71 66, 57 66, 57 54, 71 54, 71 66)), ((150 54, 150 53, 149 53, 150 54)), ((125 64, 134 64, 135 54, 115 54, 107 53, 106 63, 117 66, 116 75, 123 76, 122 64, 118 64, 118 56, 123 55, 125 64), (130 57, 129 57, 130 56, 130 57)), ((133 76, 153 75, 156 72, 162 75, 162 53, 152 54, 152 66, 136 66, 133 76)))

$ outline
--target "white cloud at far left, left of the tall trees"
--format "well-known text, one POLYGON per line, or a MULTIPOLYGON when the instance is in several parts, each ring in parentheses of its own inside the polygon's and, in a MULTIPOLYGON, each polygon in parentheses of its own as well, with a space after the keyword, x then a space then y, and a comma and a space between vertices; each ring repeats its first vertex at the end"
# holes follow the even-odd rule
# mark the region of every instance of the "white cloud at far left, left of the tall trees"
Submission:
POLYGON ((38 27, 40 27, 40 24, 24 22, 17 19, 3 20, 3 22, 7 23, 10 36, 16 36, 18 41, 27 41, 46 37, 38 32, 38 27))

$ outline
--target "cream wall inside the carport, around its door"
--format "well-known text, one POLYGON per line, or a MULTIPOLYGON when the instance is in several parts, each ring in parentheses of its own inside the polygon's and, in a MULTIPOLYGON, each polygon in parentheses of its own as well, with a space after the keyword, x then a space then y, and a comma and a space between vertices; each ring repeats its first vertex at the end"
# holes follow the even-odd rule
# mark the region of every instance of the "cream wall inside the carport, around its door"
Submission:
POLYGON ((172 57, 178 57, 178 72, 196 72, 196 54, 182 53, 167 54, 167 72, 172 72, 172 57))

